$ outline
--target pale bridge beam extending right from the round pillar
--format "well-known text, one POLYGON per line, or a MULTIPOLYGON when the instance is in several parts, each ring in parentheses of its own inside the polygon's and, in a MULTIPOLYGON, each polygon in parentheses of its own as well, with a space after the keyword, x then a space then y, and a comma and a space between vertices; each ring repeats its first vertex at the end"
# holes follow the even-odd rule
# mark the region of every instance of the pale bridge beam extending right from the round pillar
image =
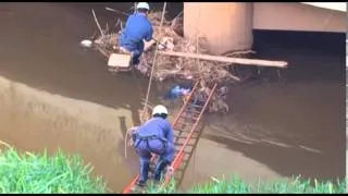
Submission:
POLYGON ((253 29, 347 32, 347 13, 302 3, 253 3, 253 29))

